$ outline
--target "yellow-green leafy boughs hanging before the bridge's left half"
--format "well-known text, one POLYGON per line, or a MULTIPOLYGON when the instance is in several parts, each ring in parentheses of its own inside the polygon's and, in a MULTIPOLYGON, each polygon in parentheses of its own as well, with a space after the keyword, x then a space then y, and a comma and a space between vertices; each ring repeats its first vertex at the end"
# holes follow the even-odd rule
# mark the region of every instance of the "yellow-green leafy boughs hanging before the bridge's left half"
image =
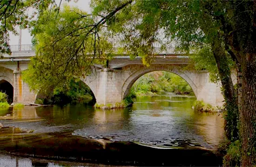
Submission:
POLYGON ((45 94, 53 88, 65 91, 70 80, 78 81, 90 74, 92 64, 103 64, 112 57, 112 45, 107 35, 102 35, 105 32, 94 30, 96 20, 70 6, 40 13, 32 30, 36 56, 23 72, 23 79, 32 90, 45 94))

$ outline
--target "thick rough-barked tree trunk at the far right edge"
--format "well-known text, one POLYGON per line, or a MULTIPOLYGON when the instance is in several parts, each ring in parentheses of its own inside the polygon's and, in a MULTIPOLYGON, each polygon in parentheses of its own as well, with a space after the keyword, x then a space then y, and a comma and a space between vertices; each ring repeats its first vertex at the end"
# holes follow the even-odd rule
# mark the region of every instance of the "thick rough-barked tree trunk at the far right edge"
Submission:
MULTIPOLYGON (((256 62, 255 58, 242 64, 241 138, 242 166, 256 164, 256 62)), ((253 56, 252 56, 253 57, 253 56)), ((255 57, 255 56, 254 56, 255 57)))

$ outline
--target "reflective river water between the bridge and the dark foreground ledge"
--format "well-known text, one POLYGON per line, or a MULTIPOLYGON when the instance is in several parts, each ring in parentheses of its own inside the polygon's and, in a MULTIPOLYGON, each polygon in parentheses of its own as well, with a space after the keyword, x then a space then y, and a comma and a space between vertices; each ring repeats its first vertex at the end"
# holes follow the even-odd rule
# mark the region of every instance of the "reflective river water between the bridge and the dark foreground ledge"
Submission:
POLYGON ((171 95, 139 96, 133 107, 126 109, 25 106, 13 109, 12 116, 2 117, 0 122, 34 129, 34 133, 70 132, 84 137, 113 136, 114 141, 156 144, 189 140, 206 148, 217 148, 225 140, 223 118, 218 113, 194 112, 194 101, 195 97, 171 95))

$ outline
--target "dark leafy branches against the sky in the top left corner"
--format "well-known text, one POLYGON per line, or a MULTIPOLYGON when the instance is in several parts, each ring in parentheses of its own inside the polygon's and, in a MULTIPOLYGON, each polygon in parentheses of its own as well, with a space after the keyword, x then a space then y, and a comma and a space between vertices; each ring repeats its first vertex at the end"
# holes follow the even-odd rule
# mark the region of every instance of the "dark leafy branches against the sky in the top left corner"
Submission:
POLYGON ((32 19, 47 9, 49 13, 58 11, 61 1, 57 4, 55 0, 0 0, 0 56, 11 54, 9 33, 17 35, 16 26, 27 28, 32 19), (29 14, 28 9, 34 12, 29 14))

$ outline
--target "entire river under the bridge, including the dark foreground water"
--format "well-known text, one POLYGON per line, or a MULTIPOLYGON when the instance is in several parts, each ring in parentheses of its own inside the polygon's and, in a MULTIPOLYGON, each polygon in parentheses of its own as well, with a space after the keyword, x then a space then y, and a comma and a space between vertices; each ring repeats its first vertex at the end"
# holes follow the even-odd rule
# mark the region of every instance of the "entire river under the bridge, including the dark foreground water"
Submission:
POLYGON ((12 128, 1 128, 0 166, 221 165, 216 153, 226 142, 222 114, 195 112, 194 101, 170 94, 138 96, 125 109, 68 105, 2 111, 0 123, 12 128))

